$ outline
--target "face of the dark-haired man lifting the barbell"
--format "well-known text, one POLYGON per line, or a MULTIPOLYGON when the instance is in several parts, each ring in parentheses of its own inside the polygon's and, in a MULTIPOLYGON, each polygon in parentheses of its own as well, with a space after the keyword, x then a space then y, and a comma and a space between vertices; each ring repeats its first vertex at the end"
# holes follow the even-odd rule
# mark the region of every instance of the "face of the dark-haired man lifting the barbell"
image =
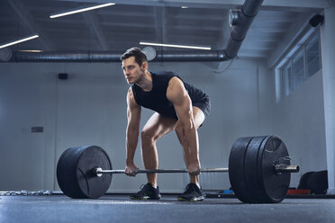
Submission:
POLYGON ((143 65, 140 67, 139 64, 136 63, 135 57, 123 59, 122 70, 124 77, 129 85, 138 82, 140 77, 145 74, 143 65))

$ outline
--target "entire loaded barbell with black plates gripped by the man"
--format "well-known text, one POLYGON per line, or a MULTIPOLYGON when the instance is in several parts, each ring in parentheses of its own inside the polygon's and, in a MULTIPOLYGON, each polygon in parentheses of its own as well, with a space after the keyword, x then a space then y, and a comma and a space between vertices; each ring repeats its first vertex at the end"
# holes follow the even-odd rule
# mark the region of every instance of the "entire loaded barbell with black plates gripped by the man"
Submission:
MULTIPOLYGON (((228 172, 231 189, 247 203, 277 203, 284 200, 291 173, 299 172, 290 165, 285 143, 276 136, 238 138, 231 147, 228 168, 203 168, 201 173, 228 172)), ((102 147, 70 147, 60 157, 57 181, 64 194, 74 199, 96 199, 104 195, 112 183, 111 160, 102 147)), ((186 169, 138 170, 144 173, 188 173, 186 169)))

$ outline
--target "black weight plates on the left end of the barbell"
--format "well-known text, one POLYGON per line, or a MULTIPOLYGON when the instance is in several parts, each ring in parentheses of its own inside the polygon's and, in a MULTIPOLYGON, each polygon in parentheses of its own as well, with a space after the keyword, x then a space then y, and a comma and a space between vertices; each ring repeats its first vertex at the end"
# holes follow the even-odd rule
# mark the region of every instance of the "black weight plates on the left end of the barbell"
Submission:
POLYGON ((71 198, 99 198, 112 182, 112 174, 97 177, 96 167, 112 169, 108 155, 101 147, 68 148, 59 158, 57 179, 59 187, 71 198))

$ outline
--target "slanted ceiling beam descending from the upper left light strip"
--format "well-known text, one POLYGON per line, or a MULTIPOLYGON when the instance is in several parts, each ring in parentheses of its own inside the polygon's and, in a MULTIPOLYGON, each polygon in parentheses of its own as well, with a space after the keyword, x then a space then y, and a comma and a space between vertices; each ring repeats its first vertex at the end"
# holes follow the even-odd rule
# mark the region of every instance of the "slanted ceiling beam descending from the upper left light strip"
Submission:
POLYGON ((99 22, 97 21, 97 18, 95 16, 95 13, 93 12, 86 12, 83 13, 84 20, 88 27, 92 27, 93 32, 95 33, 95 37, 99 42, 100 49, 107 50, 108 44, 107 41, 104 38, 103 31, 99 25, 99 22))

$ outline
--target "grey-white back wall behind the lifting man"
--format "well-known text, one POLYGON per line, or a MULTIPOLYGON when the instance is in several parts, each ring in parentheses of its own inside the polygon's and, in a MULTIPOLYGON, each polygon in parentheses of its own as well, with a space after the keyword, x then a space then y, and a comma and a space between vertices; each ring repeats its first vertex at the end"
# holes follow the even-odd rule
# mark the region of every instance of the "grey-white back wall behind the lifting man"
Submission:
MULTIPOLYGON (((228 72, 216 63, 151 63, 149 70, 172 70, 210 95, 212 112, 199 129, 203 167, 228 166, 236 138, 271 134, 266 103, 268 81, 263 61, 235 59, 228 72), (259 87, 264 85, 265 87, 259 87), (265 106, 265 107, 264 107, 265 106)), ((118 63, 0 64, 0 190, 59 190, 55 166, 68 147, 97 145, 124 167, 125 95, 128 89, 118 63), (57 74, 68 73, 68 80, 57 74), (44 127, 31 133, 32 126, 44 127), (11 174, 7 171, 11 166, 11 174)), ((272 85, 272 84, 271 84, 272 85)), ((141 127, 152 112, 142 110, 141 127)), ((158 141, 160 168, 184 167, 175 133, 158 141)), ((135 162, 143 167, 138 147, 135 162)), ((229 188, 228 174, 202 174, 204 189, 229 188)), ((180 192, 187 174, 161 174, 162 192, 180 192)), ((111 192, 135 192, 145 175, 113 175, 111 192)))

